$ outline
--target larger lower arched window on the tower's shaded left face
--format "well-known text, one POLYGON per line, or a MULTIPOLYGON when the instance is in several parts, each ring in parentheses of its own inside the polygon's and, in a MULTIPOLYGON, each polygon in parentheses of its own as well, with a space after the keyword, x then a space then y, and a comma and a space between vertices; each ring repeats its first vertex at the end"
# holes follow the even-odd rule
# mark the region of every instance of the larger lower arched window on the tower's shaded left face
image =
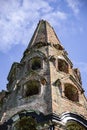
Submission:
POLYGON ((39 94, 40 83, 37 80, 30 80, 24 85, 24 97, 39 94))

